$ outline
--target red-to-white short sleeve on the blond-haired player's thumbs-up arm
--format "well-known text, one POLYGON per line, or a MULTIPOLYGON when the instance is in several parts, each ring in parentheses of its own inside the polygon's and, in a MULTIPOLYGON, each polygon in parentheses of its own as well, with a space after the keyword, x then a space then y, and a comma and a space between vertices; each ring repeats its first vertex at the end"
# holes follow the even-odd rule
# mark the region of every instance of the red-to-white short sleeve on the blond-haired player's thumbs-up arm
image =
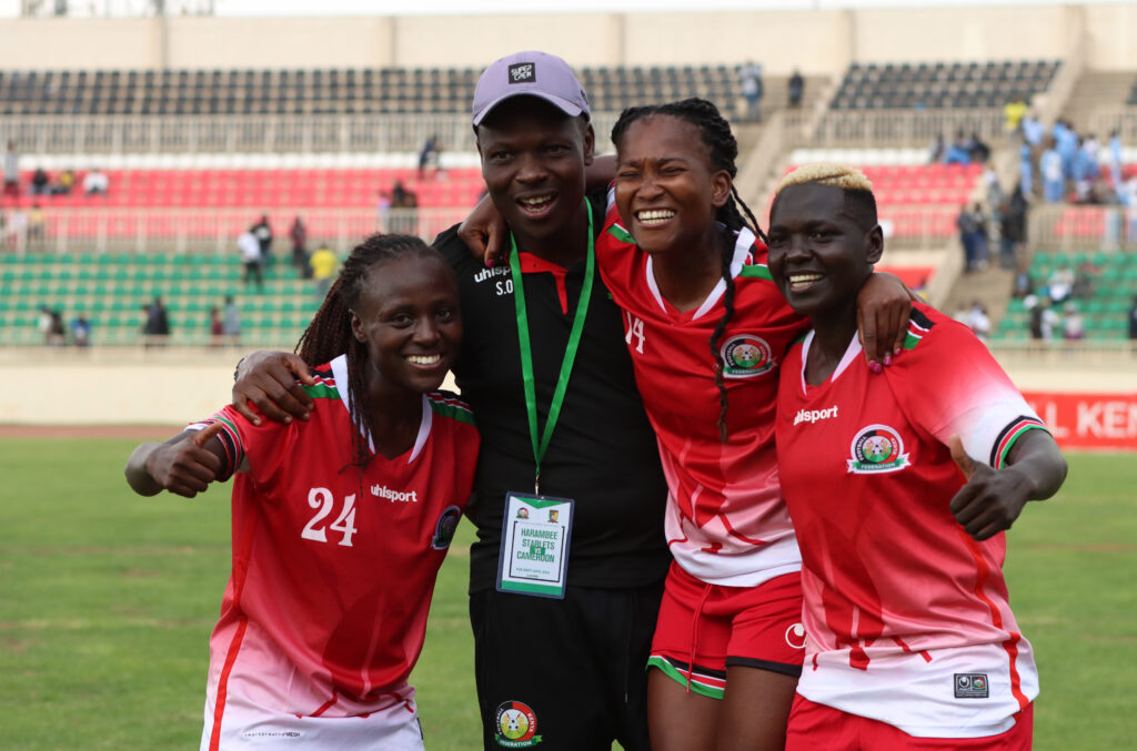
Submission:
POLYGON ((913 425, 1001 468, 1014 442, 1043 422, 995 358, 963 325, 913 310, 906 344, 885 369, 897 403, 913 425))

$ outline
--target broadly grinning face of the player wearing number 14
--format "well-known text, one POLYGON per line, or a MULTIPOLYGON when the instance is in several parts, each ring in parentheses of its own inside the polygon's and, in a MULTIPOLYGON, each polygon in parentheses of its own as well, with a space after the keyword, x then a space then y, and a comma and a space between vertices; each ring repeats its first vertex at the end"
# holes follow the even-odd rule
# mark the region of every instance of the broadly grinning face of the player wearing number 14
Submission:
POLYGON ((649 253, 706 245, 730 186, 730 174, 713 168, 699 130, 681 118, 636 120, 616 144, 620 219, 649 253))

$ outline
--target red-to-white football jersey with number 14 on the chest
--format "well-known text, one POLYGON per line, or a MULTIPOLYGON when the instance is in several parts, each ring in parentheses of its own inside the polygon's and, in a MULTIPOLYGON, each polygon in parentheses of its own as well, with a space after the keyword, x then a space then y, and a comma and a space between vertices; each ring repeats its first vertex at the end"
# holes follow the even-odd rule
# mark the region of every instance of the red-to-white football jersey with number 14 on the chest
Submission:
POLYGON ((729 440, 719 434, 717 367, 709 340, 725 307, 724 281, 680 312, 659 294, 652 258, 611 205, 597 264, 625 315, 628 349, 667 478, 667 543, 699 579, 753 586, 796 571, 800 556, 778 484, 778 368, 805 319, 770 278, 766 248, 744 230, 731 275, 735 312, 715 344, 729 395, 729 440))

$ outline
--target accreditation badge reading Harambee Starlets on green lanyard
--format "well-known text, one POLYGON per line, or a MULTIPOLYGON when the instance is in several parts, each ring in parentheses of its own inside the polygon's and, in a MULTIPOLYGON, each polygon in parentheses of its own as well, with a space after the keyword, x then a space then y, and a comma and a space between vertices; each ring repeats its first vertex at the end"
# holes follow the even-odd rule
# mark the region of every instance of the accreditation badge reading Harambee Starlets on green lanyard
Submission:
POLYGON ((498 559, 498 592, 565 596, 573 501, 507 493, 498 559))

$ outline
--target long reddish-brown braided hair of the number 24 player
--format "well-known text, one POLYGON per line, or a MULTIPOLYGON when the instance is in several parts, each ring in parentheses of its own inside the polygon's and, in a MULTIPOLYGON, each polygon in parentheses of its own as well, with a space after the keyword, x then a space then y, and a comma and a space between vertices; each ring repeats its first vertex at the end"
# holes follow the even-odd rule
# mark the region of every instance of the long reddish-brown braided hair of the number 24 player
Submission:
POLYGON ((351 433, 352 464, 365 467, 371 460, 367 436, 375 435, 372 412, 366 409, 367 347, 351 332, 351 311, 358 306, 368 272, 381 264, 405 256, 434 256, 447 268, 438 251, 412 235, 375 234, 351 250, 339 276, 327 291, 319 310, 300 335, 296 352, 309 367, 323 365, 340 354, 348 360, 348 403, 351 423, 363 428, 351 433))

